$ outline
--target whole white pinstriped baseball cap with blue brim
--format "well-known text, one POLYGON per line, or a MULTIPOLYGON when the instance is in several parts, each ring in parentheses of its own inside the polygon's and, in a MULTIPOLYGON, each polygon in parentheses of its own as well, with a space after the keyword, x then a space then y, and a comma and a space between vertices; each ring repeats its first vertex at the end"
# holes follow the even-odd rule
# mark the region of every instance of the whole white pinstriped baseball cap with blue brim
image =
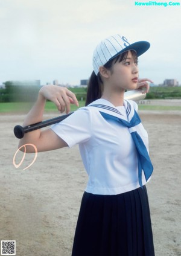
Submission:
POLYGON ((109 60, 112 60, 125 51, 135 50, 137 56, 141 56, 141 54, 145 53, 148 48, 150 48, 150 43, 147 41, 130 43, 125 36, 121 36, 120 34, 107 37, 101 41, 94 50, 94 72, 97 75, 100 66, 104 66, 107 62, 109 62, 109 60))

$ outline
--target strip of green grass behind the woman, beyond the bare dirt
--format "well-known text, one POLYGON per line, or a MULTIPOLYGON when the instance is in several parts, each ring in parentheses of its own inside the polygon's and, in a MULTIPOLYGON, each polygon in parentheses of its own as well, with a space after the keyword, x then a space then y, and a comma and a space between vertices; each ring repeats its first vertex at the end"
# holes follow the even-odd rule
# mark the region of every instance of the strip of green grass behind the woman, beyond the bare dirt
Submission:
MULTIPOLYGON (((27 113, 32 106, 33 103, 0 103, 0 114, 2 113, 27 113)), ((85 101, 79 101, 79 107, 83 107, 85 101)), ((77 107, 72 105, 71 111, 77 110, 77 107)), ((155 106, 152 104, 145 105, 139 104, 139 110, 180 110, 181 106, 155 106)), ((46 103, 45 112, 57 112, 56 106, 48 101, 46 103)))

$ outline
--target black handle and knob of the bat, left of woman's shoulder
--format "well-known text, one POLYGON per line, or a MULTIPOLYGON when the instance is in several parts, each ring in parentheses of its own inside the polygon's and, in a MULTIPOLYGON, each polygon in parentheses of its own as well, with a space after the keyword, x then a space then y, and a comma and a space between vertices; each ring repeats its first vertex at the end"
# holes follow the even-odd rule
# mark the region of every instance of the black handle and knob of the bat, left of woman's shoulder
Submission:
POLYGON ((14 127, 14 135, 16 136, 16 138, 21 139, 24 137, 25 133, 27 132, 32 132, 33 130, 37 130, 46 126, 51 126, 52 124, 56 124, 59 123, 61 121, 63 121, 65 118, 69 117, 69 115, 72 115, 74 112, 70 112, 67 115, 61 115, 60 117, 54 117, 52 119, 48 119, 36 124, 30 124, 29 126, 15 126, 14 127))

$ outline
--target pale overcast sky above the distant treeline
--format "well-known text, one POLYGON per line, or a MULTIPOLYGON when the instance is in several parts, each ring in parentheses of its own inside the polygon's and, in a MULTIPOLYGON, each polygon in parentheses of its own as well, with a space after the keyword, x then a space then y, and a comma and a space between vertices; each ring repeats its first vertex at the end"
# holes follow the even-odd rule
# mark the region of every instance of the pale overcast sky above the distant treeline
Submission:
POLYGON ((181 2, 173 2, 180 6, 138 6, 132 0, 0 0, 0 84, 40 79, 43 85, 57 79, 78 85, 90 77, 97 44, 117 33, 131 43, 151 43, 139 57, 140 77, 156 84, 176 78, 181 84, 181 2))

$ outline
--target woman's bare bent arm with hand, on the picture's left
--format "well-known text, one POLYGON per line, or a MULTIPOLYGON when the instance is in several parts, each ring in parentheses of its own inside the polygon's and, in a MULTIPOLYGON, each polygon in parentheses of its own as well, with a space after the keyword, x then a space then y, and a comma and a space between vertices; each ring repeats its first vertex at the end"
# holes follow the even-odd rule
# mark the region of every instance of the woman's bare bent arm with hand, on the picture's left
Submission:
MULTIPOLYGON (((43 86, 39 91, 36 103, 25 118, 23 126, 38 123, 43 120, 46 99, 54 102, 60 112, 64 112, 66 110, 66 114, 70 111, 71 103, 78 106, 75 94, 67 88, 54 85, 43 86)), ((25 133, 24 138, 19 141, 19 147, 25 144, 34 144, 34 146, 37 147, 38 152, 60 149, 67 146, 66 142, 57 136, 51 129, 43 131, 39 129, 25 133)), ((22 147, 22 151, 23 149, 24 147, 22 147)), ((27 146, 26 150, 27 153, 34 153, 33 147, 31 146, 27 146)))

